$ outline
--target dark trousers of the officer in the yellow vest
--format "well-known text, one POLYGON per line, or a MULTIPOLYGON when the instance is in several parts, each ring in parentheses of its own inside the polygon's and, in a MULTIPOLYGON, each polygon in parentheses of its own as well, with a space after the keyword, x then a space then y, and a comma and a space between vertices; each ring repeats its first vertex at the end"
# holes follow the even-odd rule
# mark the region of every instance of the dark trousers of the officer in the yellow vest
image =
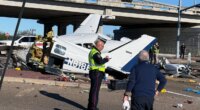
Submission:
POLYGON ((91 87, 88 99, 88 110, 97 110, 99 90, 102 79, 104 78, 104 73, 99 71, 90 71, 89 76, 91 80, 91 87))

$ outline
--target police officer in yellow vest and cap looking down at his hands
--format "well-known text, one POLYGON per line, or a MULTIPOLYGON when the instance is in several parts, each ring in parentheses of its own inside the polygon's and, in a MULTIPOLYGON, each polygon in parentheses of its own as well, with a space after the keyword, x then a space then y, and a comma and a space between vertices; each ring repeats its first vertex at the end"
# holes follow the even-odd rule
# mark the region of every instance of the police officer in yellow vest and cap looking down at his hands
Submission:
POLYGON ((105 63, 109 61, 108 56, 105 58, 101 57, 101 51, 104 48, 105 41, 102 39, 97 39, 95 41, 95 46, 89 53, 89 64, 90 64, 90 71, 89 77, 91 80, 91 87, 89 93, 89 102, 88 102, 88 110, 98 110, 98 97, 99 97, 99 90, 101 86, 102 79, 104 78, 105 74, 105 63))

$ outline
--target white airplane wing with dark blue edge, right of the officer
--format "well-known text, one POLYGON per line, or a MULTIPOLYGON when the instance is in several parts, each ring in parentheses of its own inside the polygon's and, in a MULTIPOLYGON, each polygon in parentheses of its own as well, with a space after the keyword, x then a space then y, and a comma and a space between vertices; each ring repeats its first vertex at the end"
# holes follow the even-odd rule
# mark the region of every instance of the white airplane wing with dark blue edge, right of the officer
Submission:
POLYGON ((138 53, 141 50, 149 50, 156 43, 156 38, 148 35, 127 42, 126 44, 109 52, 111 57, 107 63, 108 68, 129 73, 133 66, 138 63, 138 53), (109 66, 112 65, 112 66, 109 66))

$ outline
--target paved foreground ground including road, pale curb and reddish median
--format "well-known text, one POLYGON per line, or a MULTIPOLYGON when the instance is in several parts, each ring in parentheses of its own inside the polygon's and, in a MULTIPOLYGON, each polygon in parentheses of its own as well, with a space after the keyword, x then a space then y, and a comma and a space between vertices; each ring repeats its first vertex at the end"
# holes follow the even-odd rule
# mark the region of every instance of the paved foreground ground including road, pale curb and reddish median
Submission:
MULTIPOLYGON (((199 63, 196 67, 199 68, 199 63)), ((197 73, 199 75, 199 71, 197 73)), ((61 82, 58 78, 40 72, 9 69, 0 91, 0 110, 85 110, 89 83, 61 82)), ((154 110, 199 110, 200 94, 184 91, 186 88, 200 90, 199 82, 179 80, 168 80, 168 92, 155 97, 154 110)), ((103 86, 100 110, 122 110, 124 90, 111 91, 105 84, 103 86)))

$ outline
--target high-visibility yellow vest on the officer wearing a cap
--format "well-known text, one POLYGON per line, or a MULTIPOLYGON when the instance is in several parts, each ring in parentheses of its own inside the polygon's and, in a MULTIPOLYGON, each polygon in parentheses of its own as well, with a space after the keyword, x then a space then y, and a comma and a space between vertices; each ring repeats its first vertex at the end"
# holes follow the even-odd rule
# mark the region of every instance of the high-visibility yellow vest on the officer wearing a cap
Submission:
POLYGON ((101 72, 105 72, 105 64, 97 64, 94 59, 93 59, 93 55, 95 55, 96 53, 99 53, 99 51, 95 48, 92 48, 92 50, 89 53, 89 64, 90 64, 90 70, 99 70, 101 72))

